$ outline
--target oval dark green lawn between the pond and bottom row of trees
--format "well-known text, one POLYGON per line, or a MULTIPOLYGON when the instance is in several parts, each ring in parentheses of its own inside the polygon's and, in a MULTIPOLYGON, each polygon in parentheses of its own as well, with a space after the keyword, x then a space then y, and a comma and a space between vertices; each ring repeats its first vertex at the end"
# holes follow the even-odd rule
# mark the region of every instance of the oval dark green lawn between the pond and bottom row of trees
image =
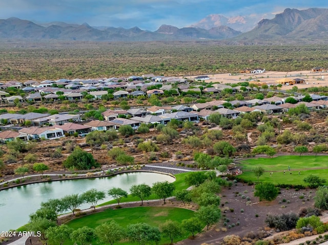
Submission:
MULTIPOLYGON (((194 211, 181 208, 171 207, 136 207, 136 208, 122 208, 116 210, 106 210, 104 212, 91 214, 88 216, 80 217, 71 220, 67 223, 68 226, 74 230, 83 226, 96 228, 98 225, 115 220, 120 226, 127 227, 131 224, 145 222, 151 226, 159 227, 166 220, 175 220, 181 224, 181 220, 193 217, 194 211)), ((183 233, 180 239, 175 239, 174 242, 186 239, 190 236, 188 232, 183 233)), ((167 238, 161 239, 159 244, 169 244, 170 240, 167 238)), ((72 244, 67 242, 66 244, 72 244)), ((98 244, 92 242, 92 244, 98 244)), ((118 244, 134 244, 129 241, 121 242, 118 244)), ((137 244, 137 243, 135 243, 137 244)))

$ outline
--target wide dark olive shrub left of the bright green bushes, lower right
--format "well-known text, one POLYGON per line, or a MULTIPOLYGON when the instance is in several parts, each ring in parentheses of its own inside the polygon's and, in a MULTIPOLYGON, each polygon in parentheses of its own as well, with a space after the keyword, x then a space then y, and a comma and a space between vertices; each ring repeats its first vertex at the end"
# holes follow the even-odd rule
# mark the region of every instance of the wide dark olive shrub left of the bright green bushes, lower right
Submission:
POLYGON ((265 218, 265 223, 270 228, 275 228, 279 231, 288 231, 296 227, 296 222, 299 219, 295 213, 282 213, 279 215, 268 215, 265 218))

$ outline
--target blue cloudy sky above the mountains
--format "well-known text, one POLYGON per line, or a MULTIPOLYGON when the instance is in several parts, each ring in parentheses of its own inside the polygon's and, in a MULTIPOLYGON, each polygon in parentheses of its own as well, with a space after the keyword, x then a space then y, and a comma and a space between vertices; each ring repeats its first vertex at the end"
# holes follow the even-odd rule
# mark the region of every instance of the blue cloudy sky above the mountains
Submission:
POLYGON ((0 19, 18 17, 35 23, 70 24, 155 31, 162 24, 187 27, 209 14, 273 18, 285 8, 328 8, 323 0, 1 0, 0 19))

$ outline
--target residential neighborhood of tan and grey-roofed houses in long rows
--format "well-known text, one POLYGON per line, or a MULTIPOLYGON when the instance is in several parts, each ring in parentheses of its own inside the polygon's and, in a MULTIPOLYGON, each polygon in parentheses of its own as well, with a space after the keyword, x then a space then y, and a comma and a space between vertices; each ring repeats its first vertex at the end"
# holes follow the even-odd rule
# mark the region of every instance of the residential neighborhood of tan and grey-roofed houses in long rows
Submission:
MULTIPOLYGON (((265 71, 258 70, 258 71, 265 71)), ((251 71, 252 73, 252 71, 251 71)), ((208 76, 195 77, 195 81, 208 80, 208 76)), ((279 79, 277 84, 286 85, 286 83, 303 83, 304 79, 279 79)), ((10 105, 17 103, 42 103, 43 101, 67 100, 79 102, 86 98, 88 100, 129 100, 142 96, 145 98, 166 98, 168 95, 174 96, 180 93, 191 93, 191 95, 209 95, 215 96, 229 91, 231 94, 240 91, 251 92, 256 90, 250 86, 231 86, 222 83, 211 83, 211 86, 200 90, 200 85, 193 84, 187 79, 174 79, 173 77, 160 76, 153 74, 137 77, 120 77, 109 79, 59 79, 56 81, 45 80, 36 81, 10 81, 1 83, 0 96, 2 103, 10 105), (174 83, 172 83, 174 81, 174 83), (172 86, 174 85, 174 87, 172 86), (161 89, 149 87, 159 87, 161 89), (8 88, 21 89, 26 93, 25 96, 10 96, 5 92, 8 88), (166 94, 166 92, 168 92, 166 94)), ((163 124, 166 125, 171 120, 199 122, 207 121, 212 114, 218 114, 221 117, 229 119, 237 118, 238 115, 260 112, 266 115, 287 113, 289 109, 304 104, 311 111, 319 110, 328 105, 327 96, 311 94, 312 102, 302 101, 305 96, 272 97, 249 100, 216 100, 208 102, 190 103, 180 105, 165 106, 135 106, 130 109, 107 109, 101 113, 103 120, 86 120, 84 114, 80 113, 61 113, 61 114, 43 114, 43 113, 3 113, 0 115, 3 126, 6 129, 0 132, 0 141, 6 143, 15 138, 24 140, 35 139, 57 139, 65 136, 77 135, 84 137, 90 131, 94 130, 117 130, 122 125, 130 125, 137 129, 141 123, 145 124, 163 124), (297 103, 285 103, 285 99, 292 97, 297 103), (10 132, 10 125, 14 127, 10 132)))

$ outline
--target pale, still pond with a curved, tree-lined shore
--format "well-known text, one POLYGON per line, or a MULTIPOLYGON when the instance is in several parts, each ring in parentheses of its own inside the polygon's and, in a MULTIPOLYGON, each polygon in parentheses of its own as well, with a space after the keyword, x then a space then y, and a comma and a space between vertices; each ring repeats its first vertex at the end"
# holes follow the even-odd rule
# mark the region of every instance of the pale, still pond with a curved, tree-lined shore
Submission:
MULTIPOLYGON (((119 187, 129 192, 132 185, 147 184, 152 186, 155 182, 174 182, 174 177, 154 172, 122 173, 111 177, 92 179, 63 180, 54 182, 35 183, 0 191, 0 232, 17 229, 29 221, 29 215, 40 208, 42 202, 50 198, 61 198, 66 195, 83 193, 95 188, 107 191, 119 187)), ((101 201, 105 203, 111 198, 101 201)), ((80 209, 89 208, 89 204, 80 206, 80 209)))

